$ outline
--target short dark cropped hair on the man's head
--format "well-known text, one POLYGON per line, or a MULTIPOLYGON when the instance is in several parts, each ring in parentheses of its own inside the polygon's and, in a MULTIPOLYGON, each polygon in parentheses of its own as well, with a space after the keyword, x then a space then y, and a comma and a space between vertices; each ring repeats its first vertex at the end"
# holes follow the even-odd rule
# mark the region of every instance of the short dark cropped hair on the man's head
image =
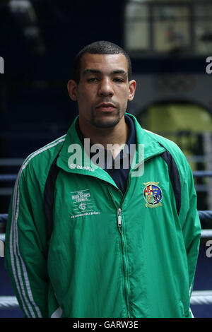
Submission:
POLYGON ((76 81, 76 83, 79 83, 80 81, 80 74, 81 74, 81 57, 83 54, 90 53, 90 54, 124 54, 126 57, 127 63, 128 63, 128 79, 131 80, 131 59, 129 57, 129 54, 122 49, 122 47, 119 47, 116 44, 113 44, 112 42, 107 42, 105 40, 101 40, 99 42, 93 42, 92 44, 87 45, 86 47, 83 47, 80 52, 76 55, 74 61, 73 61, 73 80, 76 81))

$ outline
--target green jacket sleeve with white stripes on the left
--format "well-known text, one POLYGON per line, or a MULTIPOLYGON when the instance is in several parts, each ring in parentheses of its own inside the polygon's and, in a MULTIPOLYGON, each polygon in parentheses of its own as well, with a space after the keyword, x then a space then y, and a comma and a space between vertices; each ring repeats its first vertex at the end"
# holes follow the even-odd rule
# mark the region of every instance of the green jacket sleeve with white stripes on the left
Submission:
POLYGON ((6 224, 5 266, 25 317, 47 317, 47 244, 42 195, 23 166, 6 224))

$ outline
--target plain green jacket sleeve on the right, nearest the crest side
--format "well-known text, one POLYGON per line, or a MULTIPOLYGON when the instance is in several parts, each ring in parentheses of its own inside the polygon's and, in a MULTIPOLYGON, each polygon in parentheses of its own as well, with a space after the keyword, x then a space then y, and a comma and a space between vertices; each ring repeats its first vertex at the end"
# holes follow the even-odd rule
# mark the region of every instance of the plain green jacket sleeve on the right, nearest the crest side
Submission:
POLYGON ((201 223, 196 208, 196 191, 194 178, 189 164, 186 162, 184 181, 182 184, 182 200, 179 217, 182 221, 184 245, 187 251, 187 264, 189 273, 189 295, 192 295, 196 263, 199 254, 201 237, 201 223))

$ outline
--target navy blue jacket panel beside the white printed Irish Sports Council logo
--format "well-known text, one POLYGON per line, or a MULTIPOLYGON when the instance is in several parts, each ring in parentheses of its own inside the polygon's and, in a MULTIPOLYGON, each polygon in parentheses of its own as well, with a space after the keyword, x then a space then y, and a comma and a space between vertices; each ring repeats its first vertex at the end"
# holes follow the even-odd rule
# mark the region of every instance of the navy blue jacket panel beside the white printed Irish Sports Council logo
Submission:
MULTIPOLYGON (((59 150, 60 152, 60 150, 59 150)), ((47 237, 50 239, 53 228, 53 209, 54 209, 54 187, 57 179, 57 174, 59 172, 59 167, 57 166, 57 158, 59 153, 57 153, 56 158, 52 162, 49 170, 47 181, 45 184, 45 194, 44 194, 44 206, 45 206, 45 216, 47 219, 47 237)))

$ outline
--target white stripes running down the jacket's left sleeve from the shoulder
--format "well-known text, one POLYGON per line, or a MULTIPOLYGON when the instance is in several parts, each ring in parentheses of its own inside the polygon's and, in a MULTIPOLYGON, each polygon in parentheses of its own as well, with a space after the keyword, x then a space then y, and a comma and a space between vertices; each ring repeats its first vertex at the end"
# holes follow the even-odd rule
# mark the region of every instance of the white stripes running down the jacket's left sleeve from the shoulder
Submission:
MULTIPOLYGON (((66 135, 64 135, 66 136, 66 135)), ((62 136, 62 137, 64 137, 62 136)), ((37 307, 37 305, 35 304, 34 300, 33 300, 33 294, 31 292, 30 289, 30 282, 28 279, 28 273, 26 271, 25 268, 25 263, 23 261, 23 258, 20 255, 20 251, 19 251, 19 247, 18 247, 18 227, 17 227, 17 220, 18 220, 18 213, 19 213, 19 201, 20 201, 20 176, 23 172, 23 170, 25 169, 25 167, 28 165, 28 163, 30 162, 30 160, 35 157, 35 155, 42 153, 43 151, 52 148, 53 146, 56 146, 58 143, 61 143, 65 140, 65 138, 57 138, 57 140, 55 140, 54 142, 52 142, 52 144, 49 143, 49 145, 45 146, 44 148, 41 148, 40 150, 37 150, 35 153, 33 153, 32 155, 30 155, 25 162, 23 162, 22 167, 20 167, 20 171, 18 172, 18 177, 16 179, 16 184, 15 184, 15 188, 14 188, 14 196, 13 196, 13 212, 12 212, 12 220, 11 220, 11 232, 10 232, 10 253, 11 253, 11 266, 12 266, 12 270, 13 270, 13 276, 14 279, 16 281, 16 287, 18 290, 18 294, 20 296, 20 300, 23 304, 23 309, 25 310, 25 314, 27 316, 29 316, 28 314, 28 310, 25 307, 25 303, 27 304, 27 307, 30 311, 30 314, 35 317, 35 313, 33 312, 33 308, 31 307, 31 304, 33 304, 33 306, 35 307, 35 310, 37 312, 37 315, 39 317, 42 317, 41 313, 40 313, 40 309, 37 307), (17 196, 18 194, 18 196, 17 196), (17 274, 16 274, 16 267, 15 267, 15 259, 14 259, 14 255, 16 256, 16 265, 17 265, 17 270, 18 270, 18 280, 17 280, 17 274), (19 263, 19 259, 20 259, 20 263, 19 263), (22 271, 23 271, 23 277, 24 277, 24 281, 25 281, 25 287, 26 290, 28 292, 28 297, 30 299, 30 302, 28 301, 28 297, 25 294, 25 288, 24 288, 24 284, 23 284, 23 280, 21 278, 21 269, 20 269, 20 264, 22 267, 22 271), (20 286, 19 286, 19 283, 20 286), (21 291, 20 291, 20 287, 21 287, 21 291), (24 300, 23 300, 24 298, 24 300)))

